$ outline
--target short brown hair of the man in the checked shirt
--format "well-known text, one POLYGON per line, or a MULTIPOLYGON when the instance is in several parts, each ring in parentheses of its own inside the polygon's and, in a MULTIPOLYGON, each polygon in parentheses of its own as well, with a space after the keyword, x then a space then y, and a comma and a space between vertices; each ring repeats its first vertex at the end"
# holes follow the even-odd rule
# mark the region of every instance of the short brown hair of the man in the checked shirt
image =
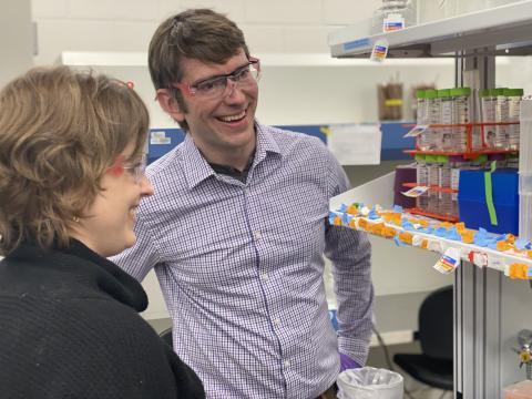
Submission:
MULTIPOLYGON (((150 75, 155 89, 168 89, 183 112, 186 104, 172 83, 183 79, 183 58, 205 63, 224 63, 238 51, 249 58, 244 33, 225 16, 208 9, 186 10, 161 23, 149 49, 150 75)), ((188 130, 186 121, 181 127, 188 130)))

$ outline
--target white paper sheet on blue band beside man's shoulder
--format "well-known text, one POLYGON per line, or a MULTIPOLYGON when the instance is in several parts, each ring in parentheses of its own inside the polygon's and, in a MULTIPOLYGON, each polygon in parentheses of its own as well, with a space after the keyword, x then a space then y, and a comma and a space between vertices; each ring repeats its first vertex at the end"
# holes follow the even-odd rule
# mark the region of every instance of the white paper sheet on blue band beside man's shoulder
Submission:
POLYGON ((380 125, 330 125, 327 146, 342 165, 379 165, 382 133, 380 125))

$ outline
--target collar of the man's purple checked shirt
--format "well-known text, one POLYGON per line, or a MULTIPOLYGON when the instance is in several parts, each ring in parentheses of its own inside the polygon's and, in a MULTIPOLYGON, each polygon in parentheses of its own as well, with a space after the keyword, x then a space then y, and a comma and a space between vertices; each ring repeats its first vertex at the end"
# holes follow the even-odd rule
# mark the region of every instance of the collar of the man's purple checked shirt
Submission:
MULTIPOLYGON (((264 161, 268 153, 280 154, 279 145, 265 125, 255 122, 255 133, 257 135, 257 147, 255 150, 255 160, 253 161, 252 170, 264 161)), ((190 190, 209 176, 215 175, 215 172, 203 157, 190 134, 185 135, 182 151, 185 178, 190 190)))

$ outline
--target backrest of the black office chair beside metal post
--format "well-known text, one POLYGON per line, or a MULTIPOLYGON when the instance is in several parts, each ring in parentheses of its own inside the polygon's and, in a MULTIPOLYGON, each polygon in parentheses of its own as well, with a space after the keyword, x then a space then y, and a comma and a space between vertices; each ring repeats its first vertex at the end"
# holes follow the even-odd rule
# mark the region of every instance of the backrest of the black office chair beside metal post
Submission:
POLYGON ((452 360, 452 286, 437 289, 424 298, 418 321, 423 354, 452 360))

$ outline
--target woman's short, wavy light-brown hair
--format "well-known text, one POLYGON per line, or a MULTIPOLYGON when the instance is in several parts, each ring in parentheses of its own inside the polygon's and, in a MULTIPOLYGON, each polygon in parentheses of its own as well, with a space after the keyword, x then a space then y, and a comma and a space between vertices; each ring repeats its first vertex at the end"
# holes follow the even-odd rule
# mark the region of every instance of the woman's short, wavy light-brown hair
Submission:
POLYGON ((130 85, 93 71, 35 68, 0 92, 0 254, 22 242, 66 246, 100 181, 150 117, 130 85))

